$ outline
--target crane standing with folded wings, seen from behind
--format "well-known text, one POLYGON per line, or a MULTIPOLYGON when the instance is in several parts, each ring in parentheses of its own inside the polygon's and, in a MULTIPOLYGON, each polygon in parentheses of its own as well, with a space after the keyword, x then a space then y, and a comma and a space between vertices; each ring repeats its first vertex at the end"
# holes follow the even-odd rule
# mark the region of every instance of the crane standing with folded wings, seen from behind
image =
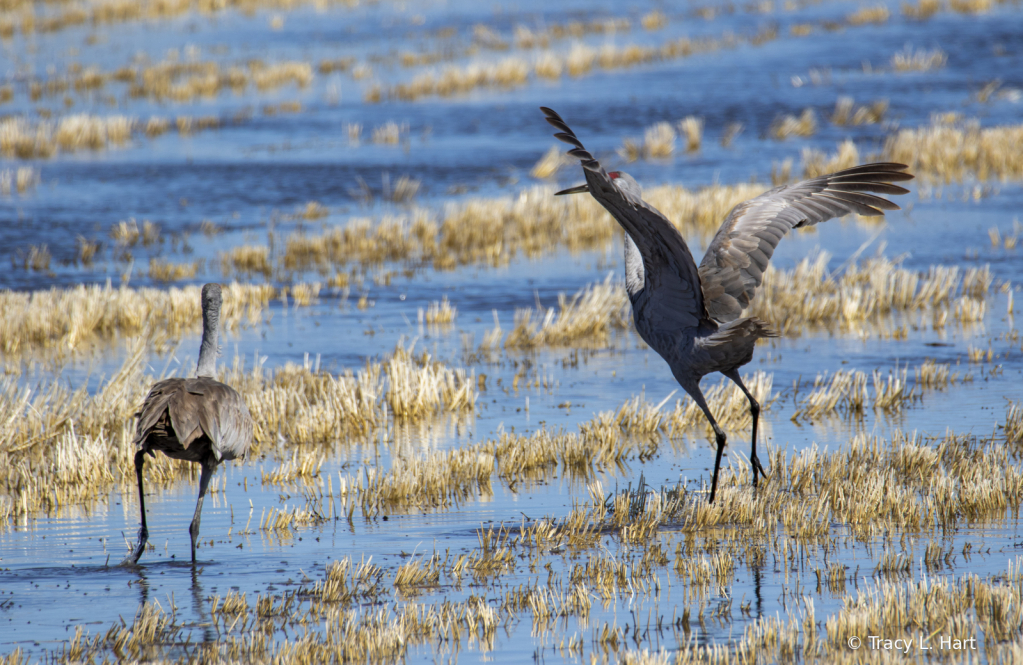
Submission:
POLYGON ((135 429, 135 473, 138 477, 138 502, 142 526, 138 542, 125 564, 138 563, 145 549, 149 532, 145 523, 145 498, 142 490, 142 467, 145 455, 160 450, 168 457, 198 462, 203 465, 198 482, 195 514, 188 527, 191 537, 192 562, 195 562, 195 541, 198 538, 203 498, 217 464, 225 459, 241 457, 252 443, 253 420, 241 395, 218 382, 217 354, 220 306, 223 302, 220 284, 203 286, 203 342, 194 379, 168 379, 149 391, 138 415, 135 429))

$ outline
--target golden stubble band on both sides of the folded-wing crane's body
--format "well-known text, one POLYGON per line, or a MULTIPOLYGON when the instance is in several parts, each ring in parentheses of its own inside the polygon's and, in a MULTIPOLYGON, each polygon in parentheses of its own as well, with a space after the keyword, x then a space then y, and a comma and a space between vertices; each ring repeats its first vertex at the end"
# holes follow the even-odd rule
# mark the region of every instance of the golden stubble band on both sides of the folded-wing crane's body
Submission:
MULTIPOLYGON (((196 309, 198 301, 196 294, 182 299, 196 309)), ((237 301, 225 297, 225 310, 232 302, 231 316, 237 317, 237 301)), ((190 322, 196 319, 197 312, 188 317, 190 322)), ((133 418, 158 379, 144 372, 145 356, 144 340, 139 338, 124 365, 94 395, 84 388, 66 388, 60 381, 33 390, 21 388, 13 376, 0 380, 0 459, 7 462, 0 476, 2 522, 92 503, 114 485, 131 486, 133 418)), ((359 371, 337 375, 308 364, 287 364, 272 372, 257 364, 247 370, 236 358, 221 378, 249 404, 255 424, 254 454, 262 445, 304 445, 293 448, 291 459, 280 469, 264 475, 269 484, 317 473, 323 458, 310 444, 360 440, 385 426, 389 413, 416 422, 438 412, 472 411, 477 396, 472 374, 426 354, 414 356, 401 346, 383 362, 367 362, 359 371)), ((194 478, 194 469, 161 457, 147 464, 146 474, 149 483, 166 486, 182 477, 194 478)), ((275 514, 271 524, 291 528, 314 514, 296 508, 275 514)))

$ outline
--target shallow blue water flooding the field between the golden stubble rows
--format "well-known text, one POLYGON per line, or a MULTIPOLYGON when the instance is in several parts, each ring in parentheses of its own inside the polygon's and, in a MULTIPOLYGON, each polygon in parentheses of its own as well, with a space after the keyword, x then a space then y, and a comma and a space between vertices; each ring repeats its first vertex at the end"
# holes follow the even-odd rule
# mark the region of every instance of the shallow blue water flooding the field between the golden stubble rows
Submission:
MULTIPOLYGON (((304 59, 315 64, 321 58, 351 55, 368 59, 372 75, 362 81, 348 74, 318 75, 304 89, 285 86, 262 94, 250 87, 241 95, 226 93, 186 103, 132 99, 121 84, 112 82, 103 94, 115 97, 113 110, 101 94, 76 95, 71 113, 121 113, 142 119, 150 115, 216 115, 225 123, 218 130, 190 137, 172 131, 103 151, 64 153, 24 164, 5 161, 5 169, 25 165, 38 169, 40 184, 0 201, 0 247, 13 264, 18 253, 27 252, 30 246, 46 245, 52 262, 44 271, 12 267, 0 272, 0 287, 39 290, 107 279, 119 283, 126 273, 131 284, 148 285, 152 282, 145 266, 152 257, 173 262, 206 259, 208 269, 195 281, 220 279, 218 253, 230 247, 265 243, 271 232, 286 233, 297 227, 315 231, 353 217, 405 211, 382 202, 390 186, 387 183, 402 175, 421 181, 416 203, 431 208, 472 196, 514 195, 535 184, 529 171, 553 142, 537 109, 541 104, 561 113, 587 147, 612 164, 621 162, 614 149, 626 137, 641 136, 655 122, 701 116, 705 132, 700 152, 628 166, 648 186, 683 183, 698 187, 750 178, 769 181, 773 162, 794 159, 798 165, 803 148, 832 151, 846 137, 857 141, 865 160, 869 149, 879 149, 895 127, 924 125, 934 112, 957 110, 979 118, 984 126, 1018 122, 1018 96, 994 96, 988 103, 975 98, 983 84, 995 78, 1000 80, 1002 90, 1023 87, 1023 47, 1018 39, 1023 15, 1014 5, 996 5, 980 15, 942 11, 929 20, 916 21, 904 18, 890 3, 892 17, 883 25, 847 27, 835 33, 817 28, 806 38, 792 37, 790 26, 838 20, 858 5, 822 2, 792 11, 775 7, 767 14, 735 7, 732 12, 719 11, 711 20, 694 17, 694 6, 669 11, 669 23, 663 30, 644 31, 639 17, 656 6, 638 3, 623 8, 620 3, 587 2, 551 9, 536 2, 486 6, 438 2, 411 7, 381 2, 355 9, 298 8, 283 12, 281 30, 269 26, 275 11, 261 10, 251 16, 228 11, 215 19, 188 15, 5 40, 0 49, 8 64, 0 76, 14 86, 16 94, 0 106, 3 114, 37 107, 61 109, 62 96, 44 96, 34 102, 26 93, 26 81, 43 76, 49 65, 57 73, 72 62, 115 70, 140 53, 160 60, 172 48, 179 49, 179 57, 184 59, 186 46, 197 47, 204 59, 222 63, 260 57, 268 62, 304 59), (594 46, 661 44, 683 35, 720 37, 730 32, 749 36, 772 25, 779 28, 779 39, 761 46, 744 43, 626 70, 595 69, 588 76, 566 76, 558 83, 531 79, 514 89, 478 89, 464 96, 380 104, 362 101, 370 84, 405 82, 421 71, 402 68, 396 53, 442 47, 461 53, 472 43, 476 24, 486 24, 508 39, 509 31, 520 24, 536 28, 610 16, 629 17, 631 31, 591 35, 580 41, 594 46), (448 27, 456 33, 445 41, 437 35, 448 27), (91 35, 98 38, 97 43, 87 42, 91 35), (925 73, 888 71, 892 54, 906 45, 940 45, 948 55, 947 65, 925 73), (816 71, 813 76, 811 70, 816 71), (827 117, 840 95, 851 95, 857 103, 887 98, 890 109, 885 122, 858 127, 832 125, 827 117), (301 113, 271 117, 260 110, 264 104, 293 100, 301 101, 301 113), (812 137, 787 141, 766 137, 779 116, 798 115, 807 106, 817 112, 818 130, 812 137), (254 112, 247 119, 226 122, 247 108, 254 112), (407 124, 402 144, 370 141, 371 130, 388 121, 407 124), (736 122, 743 123, 745 130, 730 147, 722 147, 719 139, 724 128, 736 122), (352 123, 363 126, 358 145, 347 139, 346 126, 352 123), (372 194, 371 203, 359 198, 360 179, 372 194), (312 199, 326 206, 329 217, 304 223, 282 217, 312 199), (115 242, 107 235, 113 224, 129 218, 140 223, 152 220, 162 232, 162 240, 153 247, 132 248, 131 262, 117 258, 115 242), (204 236, 204 220, 212 220, 223 232, 204 236), (78 235, 103 245, 92 266, 76 262, 78 235)), ((567 51, 574 41, 562 40, 551 48, 567 51)), ((480 56, 496 61, 518 52, 515 48, 482 49, 480 56)), ((526 57, 533 56, 527 53, 526 57)), ((464 55, 452 60, 468 61, 464 55)), ((577 170, 565 169, 560 184, 578 179, 577 170)), ((883 251, 887 256, 904 255, 903 265, 914 270, 935 264, 964 269, 987 264, 995 286, 1023 282, 1023 250, 993 248, 987 235, 991 227, 1003 234, 1013 232, 1014 218, 1023 207, 1020 183, 939 186, 918 181, 913 193, 899 203, 904 212, 890 214, 884 225, 849 219, 833 221, 813 232, 793 233, 780 246, 773 265, 789 268, 807 254, 825 250, 833 257, 832 267, 838 269, 857 251, 862 256, 883 251), (975 191, 978 196, 973 195, 975 191)), ((700 240, 693 245, 694 253, 702 254, 700 240)), ((324 290, 308 308, 272 303, 262 324, 228 336, 225 357, 236 355, 250 364, 259 358, 265 367, 313 362, 318 357, 320 366, 338 371, 357 368, 364 358, 381 356, 405 339, 414 340, 417 349, 430 350, 460 366, 462 334, 473 334, 479 342, 493 327, 495 312, 503 329, 508 330, 517 308, 532 307, 536 302, 552 306, 560 293, 575 293, 603 280, 609 272, 620 274, 621 264, 621 245, 616 240, 606 250, 579 254, 557 251, 538 259, 519 258, 500 268, 426 269, 412 277, 399 271, 388 284, 365 282, 364 292, 373 301, 365 310, 354 306, 358 296, 354 290, 347 297, 339 290, 324 290), (442 296, 457 307, 454 325, 418 325, 418 308, 442 296), (367 335, 369 331, 372 335, 367 335)), ((294 277, 318 278, 312 273, 294 277)), ((860 337, 849 330, 819 329, 761 347, 747 370, 772 372, 777 394, 761 420, 762 441, 791 455, 814 444, 841 448, 859 432, 890 437, 902 430, 936 437, 950 429, 990 435, 1004 422, 1007 400, 1019 400, 1023 395, 1019 389, 1023 349, 1007 337, 1016 329, 1014 319, 1007 314, 1007 295, 995 289, 986 302, 987 314, 981 322, 949 324, 940 331, 924 324, 913 328, 904 340, 887 340, 876 332, 860 337), (968 362, 969 348, 988 346, 998 354, 994 362, 968 362), (894 416, 868 411, 861 419, 790 419, 795 409, 793 386, 805 393, 818 372, 849 368, 870 372, 878 368, 887 373, 908 366, 911 375, 913 368, 928 358, 951 363, 953 370, 971 373, 973 381, 924 391, 919 401, 894 416)), ((920 317, 923 315, 905 315, 903 322, 911 327, 920 317)), ((187 371, 197 346, 197 338, 186 337, 172 357, 150 359, 153 371, 159 372, 168 362, 187 371)), ((337 446, 321 477, 336 482, 339 474, 386 470, 396 457, 480 442, 503 431, 533 432, 541 427, 575 431, 579 424, 599 411, 616 409, 633 395, 643 393, 657 403, 678 389, 663 361, 632 332, 620 335, 609 349, 584 354, 577 366, 565 362, 570 353, 570 349, 508 351, 496 364, 472 367, 489 376, 488 389, 481 392, 474 414, 458 423, 438 419, 407 431, 392 429, 375 444, 337 446), (531 371, 548 379, 549 388, 509 388, 518 363, 525 362, 530 363, 531 371), (500 386, 497 380, 501 380, 500 386), (566 403, 570 406, 563 406, 566 403)), ((113 349, 82 359, 62 368, 62 375, 72 383, 88 381, 94 387, 100 376, 120 366, 121 354, 113 349)), ((26 381, 43 378, 45 371, 26 381)), ((704 386, 715 382, 709 378, 704 386)), ((679 398, 676 392, 671 403, 679 398)), ((731 454, 725 463, 745 459, 736 453, 745 454, 748 436, 733 433, 731 454)), ((277 468, 288 456, 283 449, 267 450, 260 458, 228 464, 218 473, 216 487, 220 491, 207 498, 203 513, 197 569, 187 563, 187 523, 197 491, 195 478, 168 490, 151 490, 147 496, 153 548, 145 553, 139 569, 108 566, 121 560, 124 539, 131 540, 137 529, 132 485, 94 504, 69 508, 57 516, 38 516, 0 531, 0 625, 9 626, 0 636, 0 650, 7 653, 20 648, 34 660, 49 652, 59 653, 76 627, 84 626, 93 634, 104 632, 119 617, 130 623, 141 604, 153 601, 167 611, 176 611, 191 644, 216 640, 223 635, 210 621, 213 595, 235 590, 255 604, 258 594, 277 596, 322 579, 329 561, 343 557, 372 558, 385 567, 385 579, 390 583, 394 571, 409 560, 409 555, 468 552, 479 546, 477 529, 481 525, 519 525, 524 519, 564 517, 576 501, 588 497, 584 482, 555 474, 547 482, 515 489, 498 481, 492 495, 454 507, 388 515, 386 519, 382 515, 364 518, 357 511, 351 524, 339 518, 340 504, 330 507, 332 501, 327 499, 320 507, 330 519, 322 524, 281 532, 261 530, 257 525, 271 508, 306 502, 302 486, 282 488, 261 482, 261 471, 277 468)), ((696 432, 670 441, 665 437, 652 458, 630 459, 622 469, 606 470, 597 478, 608 491, 616 484, 635 484, 640 475, 653 486, 679 480, 696 484, 709 479, 712 463, 710 441, 696 432)), ((841 525, 836 525, 831 535, 837 543, 831 556, 838 557, 849 570, 850 588, 869 584, 885 541, 856 541, 841 525)), ((917 562, 915 576, 923 570, 922 551, 932 538, 940 541, 943 550, 955 552, 946 569, 928 573, 934 576, 999 573, 1023 552, 1023 533, 1014 515, 993 524, 964 524, 943 537, 937 533, 904 536, 902 547, 917 562)), ((671 550, 678 540, 670 530, 661 538, 671 550)), ((634 548, 610 536, 603 546, 617 557, 635 553, 634 548)), ((544 561, 555 574, 565 575, 577 556, 566 550, 547 553, 544 561)), ((784 614, 803 594, 813 597, 818 619, 836 612, 843 594, 817 588, 814 573, 821 565, 827 567, 828 557, 828 551, 810 549, 794 565, 777 561, 762 568, 739 564, 732 581, 715 585, 708 597, 698 602, 688 596, 682 583, 672 584, 674 574, 669 567, 657 574, 659 590, 620 593, 607 605, 594 603, 588 623, 565 620, 548 631, 532 625, 529 614, 521 613, 499 632, 497 644, 491 647, 496 651, 478 644, 428 645, 411 647, 408 660, 432 662, 441 655, 470 661, 522 662, 530 657, 575 661, 557 647, 562 636, 581 636, 589 652, 595 649, 594 631, 605 622, 634 630, 642 627, 648 616, 655 617, 655 622, 656 617, 665 617, 669 619, 665 623, 671 623, 671 617, 680 614, 683 607, 713 610, 733 603, 733 609, 722 611, 715 619, 706 623, 701 619, 695 633, 682 635, 677 629, 662 628, 646 641, 636 641, 636 646, 669 649, 688 641, 729 644, 752 621, 784 614), (749 610, 740 611, 746 603, 750 603, 749 610)), ((543 581, 547 572, 540 571, 522 564, 487 590, 492 598, 494 593, 519 584, 543 581)), ((425 592, 419 600, 461 600, 477 592, 484 591, 473 585, 442 586, 425 592)), ((294 636, 283 627, 274 632, 275 639, 294 636)), ((175 647, 168 653, 189 651, 175 647)))

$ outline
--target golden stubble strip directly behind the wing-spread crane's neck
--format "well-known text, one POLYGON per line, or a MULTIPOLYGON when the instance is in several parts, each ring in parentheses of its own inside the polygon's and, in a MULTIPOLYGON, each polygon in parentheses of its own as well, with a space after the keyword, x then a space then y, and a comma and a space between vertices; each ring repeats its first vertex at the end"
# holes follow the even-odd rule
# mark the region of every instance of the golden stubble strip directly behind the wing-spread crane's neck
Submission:
MULTIPOLYGON (((715 185, 699 191, 660 186, 651 187, 647 196, 683 233, 710 234, 736 204, 765 189, 756 184, 715 185)), ((348 264, 373 266, 388 261, 442 270, 459 265, 498 266, 520 254, 538 257, 560 248, 605 247, 620 232, 595 202, 551 193, 548 187, 533 187, 515 196, 450 205, 440 215, 413 209, 403 217, 356 218, 346 226, 327 227, 319 235, 293 233, 284 238, 277 267, 326 273, 348 264)), ((269 249, 262 253, 268 260, 269 249)), ((231 270, 230 261, 224 265, 231 270)), ((270 268, 262 261, 259 267, 270 268)))

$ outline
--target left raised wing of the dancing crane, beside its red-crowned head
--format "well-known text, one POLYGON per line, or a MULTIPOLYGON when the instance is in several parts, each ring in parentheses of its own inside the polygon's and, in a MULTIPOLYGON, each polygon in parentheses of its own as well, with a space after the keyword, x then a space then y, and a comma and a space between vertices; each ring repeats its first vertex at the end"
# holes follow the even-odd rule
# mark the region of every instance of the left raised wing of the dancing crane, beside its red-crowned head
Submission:
POLYGON ((582 163, 589 193, 621 224, 639 250, 646 273, 642 299, 647 318, 665 331, 698 326, 707 318, 700 273, 678 229, 642 198, 622 191, 561 116, 544 106, 540 110, 548 123, 562 130, 554 138, 575 146, 568 153, 582 163))

